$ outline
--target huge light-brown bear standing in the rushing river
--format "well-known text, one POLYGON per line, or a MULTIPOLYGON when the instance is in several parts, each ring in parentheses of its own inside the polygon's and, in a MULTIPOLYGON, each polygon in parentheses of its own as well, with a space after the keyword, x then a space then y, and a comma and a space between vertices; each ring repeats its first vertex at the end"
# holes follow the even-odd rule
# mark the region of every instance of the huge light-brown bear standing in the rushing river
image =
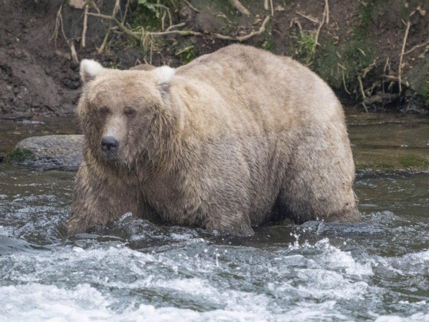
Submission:
POLYGON ((125 213, 237 236, 357 220, 344 113, 287 57, 234 44, 172 69, 80 66, 85 137, 70 233, 125 213))

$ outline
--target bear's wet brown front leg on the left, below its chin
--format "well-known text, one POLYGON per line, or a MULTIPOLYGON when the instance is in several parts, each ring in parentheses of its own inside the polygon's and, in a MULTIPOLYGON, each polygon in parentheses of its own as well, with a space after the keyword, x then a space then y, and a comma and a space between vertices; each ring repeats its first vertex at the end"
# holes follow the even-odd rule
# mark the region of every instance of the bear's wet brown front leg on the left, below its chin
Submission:
POLYGON ((107 179, 84 161, 76 174, 72 215, 67 222, 70 234, 86 232, 107 224, 125 213, 137 215, 139 190, 122 179, 107 179))

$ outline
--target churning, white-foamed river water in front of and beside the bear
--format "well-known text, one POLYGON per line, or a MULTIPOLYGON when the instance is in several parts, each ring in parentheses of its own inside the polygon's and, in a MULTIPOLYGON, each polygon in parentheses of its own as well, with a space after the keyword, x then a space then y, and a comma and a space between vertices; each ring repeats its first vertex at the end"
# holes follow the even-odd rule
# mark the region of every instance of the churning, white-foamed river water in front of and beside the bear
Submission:
POLYGON ((73 176, 0 163, 1 322, 429 321, 428 172, 358 173, 360 223, 244 239, 131 217, 69 237, 73 176))

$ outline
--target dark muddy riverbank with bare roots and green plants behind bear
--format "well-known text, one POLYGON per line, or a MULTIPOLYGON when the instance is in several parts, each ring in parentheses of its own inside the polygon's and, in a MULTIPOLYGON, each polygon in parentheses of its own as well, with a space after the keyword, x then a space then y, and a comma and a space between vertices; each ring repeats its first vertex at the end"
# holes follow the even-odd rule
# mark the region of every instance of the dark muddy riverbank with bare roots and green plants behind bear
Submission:
POLYGON ((288 55, 357 110, 427 113, 426 0, 1 1, 0 118, 74 112, 78 63, 178 67, 232 42, 288 55))

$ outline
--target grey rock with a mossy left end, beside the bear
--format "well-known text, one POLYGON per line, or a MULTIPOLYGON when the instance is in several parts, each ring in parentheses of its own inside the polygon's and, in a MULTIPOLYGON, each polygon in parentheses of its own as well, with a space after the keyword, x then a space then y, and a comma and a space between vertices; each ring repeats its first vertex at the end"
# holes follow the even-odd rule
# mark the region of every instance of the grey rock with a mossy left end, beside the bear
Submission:
POLYGON ((31 137, 16 144, 4 161, 39 170, 77 170, 82 149, 82 135, 31 137))

